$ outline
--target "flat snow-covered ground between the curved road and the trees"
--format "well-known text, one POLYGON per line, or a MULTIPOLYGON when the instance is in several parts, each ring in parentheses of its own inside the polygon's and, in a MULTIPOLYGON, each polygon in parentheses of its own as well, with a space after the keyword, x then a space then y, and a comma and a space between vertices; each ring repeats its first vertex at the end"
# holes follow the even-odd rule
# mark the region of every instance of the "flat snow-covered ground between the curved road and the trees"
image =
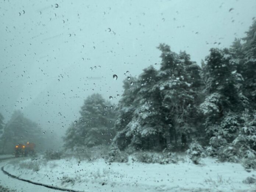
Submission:
POLYGON ((189 160, 177 164, 108 163, 103 159, 78 161, 23 160, 10 163, 5 171, 20 178, 76 191, 147 192, 255 192, 256 184, 245 184, 247 172, 237 163, 219 163, 205 158, 195 165, 189 160))

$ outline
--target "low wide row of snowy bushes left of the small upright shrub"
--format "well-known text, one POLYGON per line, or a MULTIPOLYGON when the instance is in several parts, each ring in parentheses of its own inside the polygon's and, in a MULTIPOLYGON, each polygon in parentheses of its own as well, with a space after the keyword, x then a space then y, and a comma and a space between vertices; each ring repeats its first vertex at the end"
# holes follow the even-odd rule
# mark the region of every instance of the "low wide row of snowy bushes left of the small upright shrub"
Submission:
POLYGON ((178 157, 175 153, 156 153, 156 152, 136 152, 133 160, 142 163, 170 164, 177 163, 178 157))

